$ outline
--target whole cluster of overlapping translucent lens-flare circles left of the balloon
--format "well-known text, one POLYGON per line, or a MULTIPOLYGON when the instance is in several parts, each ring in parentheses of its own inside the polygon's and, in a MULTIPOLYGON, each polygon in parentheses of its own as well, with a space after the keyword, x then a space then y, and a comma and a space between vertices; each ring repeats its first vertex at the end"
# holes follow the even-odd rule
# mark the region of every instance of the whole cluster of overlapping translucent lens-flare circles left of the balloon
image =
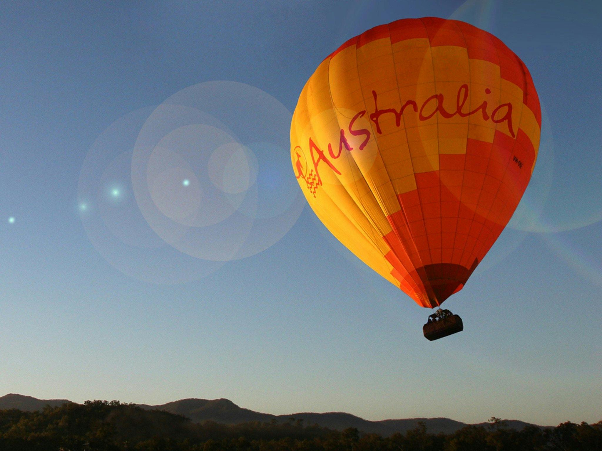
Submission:
POLYGON ((88 238, 119 271, 154 283, 194 280, 267 249, 304 205, 281 177, 290 121, 274 97, 236 82, 193 85, 125 115, 82 165, 88 238))

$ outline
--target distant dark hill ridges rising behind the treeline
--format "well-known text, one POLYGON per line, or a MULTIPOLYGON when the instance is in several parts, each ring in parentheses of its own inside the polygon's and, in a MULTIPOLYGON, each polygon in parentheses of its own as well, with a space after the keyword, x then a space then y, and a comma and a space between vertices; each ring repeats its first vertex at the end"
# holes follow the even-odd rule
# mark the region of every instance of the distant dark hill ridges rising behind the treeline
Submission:
MULTIPOLYGON (((22 394, 6 394, 0 397, 0 410, 19 409, 23 411, 42 410, 46 405, 57 407, 64 403, 71 402, 67 399, 37 399, 32 396, 23 396, 22 394)), ((467 426, 467 423, 458 422, 448 418, 412 418, 399 420, 364 420, 355 415, 344 412, 328 413, 294 413, 290 415, 272 415, 267 413, 255 412, 249 409, 241 408, 229 399, 181 399, 160 405, 138 404, 139 407, 146 410, 163 410, 169 413, 179 414, 190 418, 195 423, 213 421, 228 425, 235 425, 246 422, 287 422, 291 418, 294 420, 303 420, 305 425, 317 424, 323 428, 337 429, 343 431, 346 428, 357 428, 359 431, 376 433, 383 436, 389 436, 395 432, 404 434, 409 429, 418 426, 418 422, 424 422, 427 431, 437 434, 451 434, 467 426)), ((523 429, 530 423, 520 420, 504 420, 509 428, 523 429)), ((483 425, 486 423, 479 423, 483 425)))

